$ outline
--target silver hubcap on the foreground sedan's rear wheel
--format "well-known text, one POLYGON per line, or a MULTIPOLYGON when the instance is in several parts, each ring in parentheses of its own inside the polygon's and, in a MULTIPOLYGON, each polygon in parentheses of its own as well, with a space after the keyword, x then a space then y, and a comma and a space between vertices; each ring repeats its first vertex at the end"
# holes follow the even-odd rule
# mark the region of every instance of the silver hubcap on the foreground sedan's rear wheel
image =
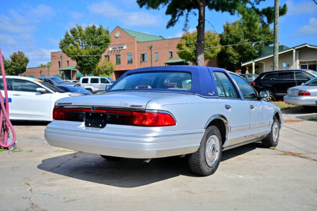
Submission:
POLYGON ((205 151, 206 162, 210 167, 212 167, 212 165, 214 165, 217 162, 219 150, 220 145, 217 136, 211 135, 207 140, 205 151))

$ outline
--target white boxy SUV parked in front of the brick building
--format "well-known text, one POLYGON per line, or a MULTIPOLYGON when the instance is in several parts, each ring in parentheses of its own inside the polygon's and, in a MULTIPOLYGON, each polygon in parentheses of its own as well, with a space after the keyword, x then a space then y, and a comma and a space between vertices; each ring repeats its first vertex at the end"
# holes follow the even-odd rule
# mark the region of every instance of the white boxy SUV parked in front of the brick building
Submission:
POLYGON ((113 83, 110 77, 84 76, 79 80, 79 86, 92 93, 106 91, 113 83))

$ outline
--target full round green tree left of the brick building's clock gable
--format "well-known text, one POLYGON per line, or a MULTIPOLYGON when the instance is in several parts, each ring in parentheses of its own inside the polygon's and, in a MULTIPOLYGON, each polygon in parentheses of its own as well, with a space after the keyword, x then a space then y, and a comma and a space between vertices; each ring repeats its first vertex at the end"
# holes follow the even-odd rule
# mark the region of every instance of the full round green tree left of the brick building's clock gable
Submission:
POLYGON ((89 75, 94 70, 110 44, 109 30, 102 25, 80 25, 71 28, 70 34, 66 31, 64 38, 59 42, 59 48, 71 59, 77 62, 77 69, 89 75))

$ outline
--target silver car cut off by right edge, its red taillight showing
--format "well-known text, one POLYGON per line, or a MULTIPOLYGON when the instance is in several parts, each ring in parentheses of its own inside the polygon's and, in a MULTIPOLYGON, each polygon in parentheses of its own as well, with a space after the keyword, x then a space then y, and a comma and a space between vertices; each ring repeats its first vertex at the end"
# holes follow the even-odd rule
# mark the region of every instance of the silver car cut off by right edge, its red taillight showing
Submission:
POLYGON ((289 88, 284 96, 285 103, 304 106, 306 108, 316 107, 317 101, 317 77, 307 81, 305 84, 289 88))

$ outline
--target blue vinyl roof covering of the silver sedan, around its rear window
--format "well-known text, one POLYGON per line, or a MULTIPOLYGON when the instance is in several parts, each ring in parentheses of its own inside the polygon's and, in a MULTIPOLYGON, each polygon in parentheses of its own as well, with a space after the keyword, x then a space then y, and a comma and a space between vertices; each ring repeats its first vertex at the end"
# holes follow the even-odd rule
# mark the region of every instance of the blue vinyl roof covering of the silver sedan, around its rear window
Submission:
POLYGON ((217 67, 206 67, 206 66, 191 66, 191 65, 172 65, 172 66, 156 66, 156 67, 144 67, 134 70, 130 70, 121 75, 116 82, 108 89, 107 92, 120 92, 120 91, 146 91, 146 92, 173 92, 173 93, 187 93, 196 94, 203 97, 218 97, 215 84, 211 76, 212 71, 225 72, 226 70, 217 67), (190 90, 167 90, 167 89, 128 89, 128 90, 113 90, 111 87, 116 85, 120 80, 125 78, 127 75, 141 73, 141 72, 152 72, 152 71, 179 71, 179 72, 189 72, 192 75, 192 88, 190 90))

